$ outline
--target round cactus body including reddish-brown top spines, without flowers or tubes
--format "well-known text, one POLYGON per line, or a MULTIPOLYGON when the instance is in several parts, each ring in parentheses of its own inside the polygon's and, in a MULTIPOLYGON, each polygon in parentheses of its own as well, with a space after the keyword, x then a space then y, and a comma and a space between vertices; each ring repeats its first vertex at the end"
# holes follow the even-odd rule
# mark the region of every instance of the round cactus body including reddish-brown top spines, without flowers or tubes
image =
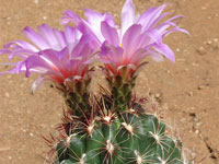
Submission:
POLYGON ((118 110, 113 99, 94 98, 82 117, 68 114, 51 142, 57 164, 181 164, 182 143, 166 134, 165 124, 134 99, 118 110), (112 103, 112 104, 111 104, 112 103))

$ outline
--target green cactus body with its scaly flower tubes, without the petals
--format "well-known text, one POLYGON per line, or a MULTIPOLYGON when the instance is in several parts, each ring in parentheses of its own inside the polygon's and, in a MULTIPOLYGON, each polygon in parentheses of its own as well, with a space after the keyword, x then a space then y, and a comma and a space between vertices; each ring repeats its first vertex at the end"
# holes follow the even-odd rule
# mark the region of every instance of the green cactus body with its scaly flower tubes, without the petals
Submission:
POLYGON ((181 142, 166 134, 157 116, 131 102, 139 68, 131 69, 119 68, 114 75, 106 70, 111 94, 94 104, 84 96, 89 95, 85 83, 67 94, 76 126, 71 130, 66 126, 67 138, 57 144, 58 164, 182 163, 181 142))

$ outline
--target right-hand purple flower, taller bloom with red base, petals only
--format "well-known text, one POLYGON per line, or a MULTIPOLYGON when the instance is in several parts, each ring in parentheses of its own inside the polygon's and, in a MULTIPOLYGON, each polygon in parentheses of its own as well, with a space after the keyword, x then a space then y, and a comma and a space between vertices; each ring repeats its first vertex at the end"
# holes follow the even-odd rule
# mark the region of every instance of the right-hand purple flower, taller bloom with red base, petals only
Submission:
POLYGON ((174 52, 162 39, 173 32, 186 34, 188 32, 176 25, 176 19, 182 15, 160 23, 170 14, 162 13, 166 5, 150 8, 141 15, 136 15, 132 0, 126 0, 122 10, 119 28, 110 14, 91 10, 85 10, 87 20, 80 19, 71 11, 66 11, 61 23, 73 23, 79 31, 91 34, 96 45, 101 46, 100 60, 112 73, 116 73, 124 66, 129 66, 135 70, 145 57, 162 61, 165 56, 175 62, 174 52))

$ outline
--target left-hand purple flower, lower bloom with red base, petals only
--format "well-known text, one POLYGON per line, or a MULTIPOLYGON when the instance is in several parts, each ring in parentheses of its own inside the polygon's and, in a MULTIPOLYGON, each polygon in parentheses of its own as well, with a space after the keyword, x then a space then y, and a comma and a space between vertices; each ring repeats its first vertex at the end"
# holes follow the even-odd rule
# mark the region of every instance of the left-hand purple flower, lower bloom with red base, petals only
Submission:
POLYGON ((4 63, 13 68, 0 74, 25 72, 26 77, 30 77, 31 73, 38 73, 39 78, 32 85, 33 92, 45 80, 65 84, 67 81, 78 81, 88 75, 94 55, 90 36, 82 35, 70 26, 58 31, 44 24, 37 30, 23 30, 23 34, 33 44, 14 40, 0 49, 0 55, 9 55, 10 60, 13 57, 21 58, 19 62, 4 63))

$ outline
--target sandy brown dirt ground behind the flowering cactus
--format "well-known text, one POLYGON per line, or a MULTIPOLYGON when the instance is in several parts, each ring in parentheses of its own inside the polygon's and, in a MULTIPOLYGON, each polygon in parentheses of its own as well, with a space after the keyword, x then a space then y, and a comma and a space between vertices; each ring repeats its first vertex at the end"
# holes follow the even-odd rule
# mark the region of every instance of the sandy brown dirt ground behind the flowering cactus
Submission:
MULTIPOLYGON (((119 20, 125 0, 0 0, 0 46, 25 39, 21 30, 47 23, 60 27, 67 9, 82 16, 83 9, 110 12, 119 20)), ((136 92, 150 90, 173 125, 184 136, 184 144, 203 164, 219 164, 219 1, 135 0, 136 10, 170 2, 168 11, 182 14, 180 25, 191 36, 172 34, 165 42, 175 51, 176 63, 151 62, 140 73, 136 92)), ((5 56, 0 62, 7 62, 5 56)), ((0 67, 0 71, 7 68, 0 67)), ((60 95, 44 85, 31 95, 36 75, 0 77, 0 164, 42 164, 48 150, 41 138, 60 121, 60 95)), ((103 75, 101 80, 103 81, 103 75)), ((94 87, 96 84, 93 84, 94 87)))

